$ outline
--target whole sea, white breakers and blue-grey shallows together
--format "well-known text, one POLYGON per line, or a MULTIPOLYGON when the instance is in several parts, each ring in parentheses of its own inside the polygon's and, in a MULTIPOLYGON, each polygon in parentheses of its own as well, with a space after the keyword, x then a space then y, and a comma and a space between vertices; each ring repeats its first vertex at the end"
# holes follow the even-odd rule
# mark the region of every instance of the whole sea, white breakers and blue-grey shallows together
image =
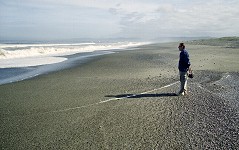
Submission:
POLYGON ((59 71, 145 42, 0 44, 0 85, 59 71))

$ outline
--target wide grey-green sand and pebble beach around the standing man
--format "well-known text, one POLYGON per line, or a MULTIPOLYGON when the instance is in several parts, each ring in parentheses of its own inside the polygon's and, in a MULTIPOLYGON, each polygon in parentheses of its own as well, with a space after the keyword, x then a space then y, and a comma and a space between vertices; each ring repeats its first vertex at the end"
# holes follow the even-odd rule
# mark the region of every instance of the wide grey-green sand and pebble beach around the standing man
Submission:
POLYGON ((195 78, 177 97, 176 47, 143 46, 1 85, 1 148, 237 149, 239 49, 188 45, 195 78))

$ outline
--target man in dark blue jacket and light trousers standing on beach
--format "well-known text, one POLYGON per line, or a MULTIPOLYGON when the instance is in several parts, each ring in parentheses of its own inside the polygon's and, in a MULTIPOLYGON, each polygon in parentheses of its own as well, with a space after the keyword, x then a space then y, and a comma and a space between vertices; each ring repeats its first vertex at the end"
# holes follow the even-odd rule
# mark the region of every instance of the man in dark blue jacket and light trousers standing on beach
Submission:
POLYGON ((189 54, 185 49, 184 43, 180 43, 178 49, 181 51, 178 63, 181 86, 177 95, 187 95, 187 71, 190 67, 189 54))

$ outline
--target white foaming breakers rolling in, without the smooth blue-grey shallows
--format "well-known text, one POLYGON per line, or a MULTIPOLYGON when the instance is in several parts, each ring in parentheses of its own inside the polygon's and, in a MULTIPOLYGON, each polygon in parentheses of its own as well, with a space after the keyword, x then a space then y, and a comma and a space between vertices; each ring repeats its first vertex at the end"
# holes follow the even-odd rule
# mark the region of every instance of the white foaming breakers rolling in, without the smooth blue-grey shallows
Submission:
POLYGON ((0 68, 38 66, 59 63, 76 53, 124 49, 146 43, 76 43, 76 44, 0 44, 0 68))

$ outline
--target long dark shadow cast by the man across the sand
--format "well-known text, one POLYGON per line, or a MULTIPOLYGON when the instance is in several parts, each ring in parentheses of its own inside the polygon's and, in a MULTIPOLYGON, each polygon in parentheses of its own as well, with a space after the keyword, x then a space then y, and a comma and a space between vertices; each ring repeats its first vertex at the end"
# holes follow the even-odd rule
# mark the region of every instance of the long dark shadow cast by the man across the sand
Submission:
POLYGON ((159 94, 120 94, 120 95, 106 95, 105 97, 114 98, 143 98, 143 97, 168 97, 177 96, 175 93, 159 93, 159 94))

